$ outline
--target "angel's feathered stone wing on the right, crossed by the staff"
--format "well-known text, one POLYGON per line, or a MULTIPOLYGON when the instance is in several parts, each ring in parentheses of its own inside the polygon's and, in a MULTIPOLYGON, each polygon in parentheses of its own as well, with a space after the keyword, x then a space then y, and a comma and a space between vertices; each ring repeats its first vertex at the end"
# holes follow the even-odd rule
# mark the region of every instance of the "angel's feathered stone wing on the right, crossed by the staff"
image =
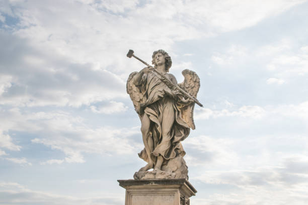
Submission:
MULTIPOLYGON (((184 81, 178 83, 178 85, 186 92, 188 92, 191 96, 197 97, 197 93, 200 88, 200 78, 194 71, 188 69, 183 70, 182 74, 184 76, 184 81)), ((194 108, 195 108, 194 103, 180 108, 182 113, 182 118, 185 120, 188 126, 193 130, 196 128, 193 118, 194 108)))

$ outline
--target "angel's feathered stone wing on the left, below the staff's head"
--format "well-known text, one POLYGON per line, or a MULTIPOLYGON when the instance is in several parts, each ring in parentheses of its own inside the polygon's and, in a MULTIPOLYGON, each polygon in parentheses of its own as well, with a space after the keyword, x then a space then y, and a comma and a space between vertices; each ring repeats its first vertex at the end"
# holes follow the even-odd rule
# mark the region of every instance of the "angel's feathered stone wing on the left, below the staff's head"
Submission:
POLYGON ((138 72, 132 72, 130 73, 127 82, 126 82, 126 91, 130 96, 130 99, 133 102, 135 111, 137 112, 140 120, 141 117, 143 116, 143 109, 142 107, 140 107, 140 103, 142 101, 143 98, 143 92, 142 90, 140 90, 140 87, 137 87, 134 83, 133 83, 133 77, 135 74, 137 74, 138 72))

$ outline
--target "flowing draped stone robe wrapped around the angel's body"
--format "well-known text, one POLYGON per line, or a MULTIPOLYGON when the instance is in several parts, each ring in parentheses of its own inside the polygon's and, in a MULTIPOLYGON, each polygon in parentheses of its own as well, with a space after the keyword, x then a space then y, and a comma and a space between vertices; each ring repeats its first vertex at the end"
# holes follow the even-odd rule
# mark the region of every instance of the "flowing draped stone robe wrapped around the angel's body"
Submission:
MULTIPOLYGON (((165 73, 165 76, 177 84, 174 75, 165 73)), ((181 93, 171 90, 153 71, 144 73, 137 86, 140 87, 140 90, 145 90, 141 106, 144 108, 143 115, 147 115, 150 119, 147 138, 153 139, 153 151, 149 156, 153 163, 156 164, 159 155, 164 157, 165 162, 177 155, 184 156, 185 151, 181 141, 189 135, 190 128, 181 117, 181 111, 177 107, 177 101, 182 98, 181 93), (166 120, 173 122, 168 133, 162 132, 162 128, 166 126, 163 124, 163 119, 164 122, 166 120)), ((145 149, 138 155, 144 161, 149 161, 145 149)))

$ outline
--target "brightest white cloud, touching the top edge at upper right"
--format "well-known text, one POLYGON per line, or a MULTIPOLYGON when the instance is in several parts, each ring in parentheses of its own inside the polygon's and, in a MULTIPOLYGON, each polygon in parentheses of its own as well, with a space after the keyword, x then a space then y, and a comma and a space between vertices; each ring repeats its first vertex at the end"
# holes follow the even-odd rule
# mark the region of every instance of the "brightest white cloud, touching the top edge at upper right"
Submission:
POLYGON ((201 24, 203 20, 208 25, 227 32, 251 27, 303 2, 275 0, 260 5, 259 1, 234 0, 223 1, 223 4, 221 1, 191 1, 191 4, 185 5, 185 11, 190 14, 189 19, 196 23, 201 24))

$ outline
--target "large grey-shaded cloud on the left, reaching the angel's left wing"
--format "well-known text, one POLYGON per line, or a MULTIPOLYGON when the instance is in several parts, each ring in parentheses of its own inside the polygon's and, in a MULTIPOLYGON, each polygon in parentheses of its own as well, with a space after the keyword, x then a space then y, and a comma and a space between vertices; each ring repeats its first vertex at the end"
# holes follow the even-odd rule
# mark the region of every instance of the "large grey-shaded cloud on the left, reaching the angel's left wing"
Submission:
MULTIPOLYGON (((39 56, 36 58, 39 59, 36 61, 31 58, 31 63, 27 60, 23 65, 33 70, 32 75, 20 70, 17 72, 23 76, 15 74, 14 77, 8 76, 0 80, 0 104, 80 107, 113 97, 127 97, 123 91, 124 80, 107 70, 93 70, 89 69, 93 66, 91 64, 73 65, 67 62, 56 62, 59 64, 57 66, 63 66, 64 69, 55 69, 52 68, 53 60, 43 63, 39 56)), ((16 68, 11 69, 12 72, 14 69, 16 68)))

